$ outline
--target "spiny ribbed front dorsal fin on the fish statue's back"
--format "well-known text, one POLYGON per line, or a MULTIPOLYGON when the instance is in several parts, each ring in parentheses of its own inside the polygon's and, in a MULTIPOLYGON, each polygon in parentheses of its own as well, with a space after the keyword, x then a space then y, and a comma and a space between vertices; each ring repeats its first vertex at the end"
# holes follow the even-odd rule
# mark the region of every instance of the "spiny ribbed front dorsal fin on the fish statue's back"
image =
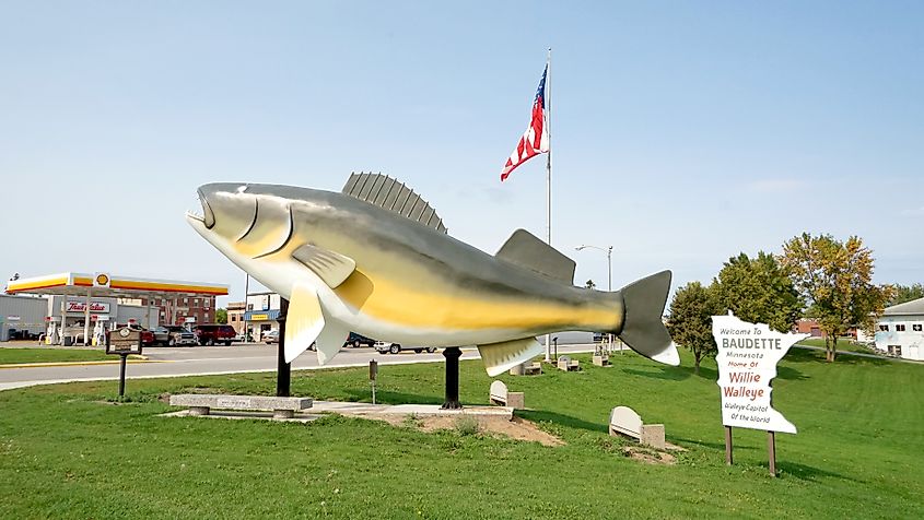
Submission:
POLYGON ((414 222, 448 233, 436 211, 419 194, 396 179, 382 174, 353 173, 343 186, 343 194, 393 211, 414 222))

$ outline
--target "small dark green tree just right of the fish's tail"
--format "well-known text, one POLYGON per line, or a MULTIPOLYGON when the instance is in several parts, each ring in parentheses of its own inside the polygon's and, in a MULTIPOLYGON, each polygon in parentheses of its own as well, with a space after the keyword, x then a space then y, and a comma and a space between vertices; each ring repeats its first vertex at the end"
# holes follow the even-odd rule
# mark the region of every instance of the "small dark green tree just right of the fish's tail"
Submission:
POLYGON ((693 370, 698 376, 700 362, 718 352, 712 336, 712 317, 717 310, 712 292, 712 287, 704 287, 699 282, 678 288, 670 302, 667 319, 667 330, 674 342, 693 353, 693 370))

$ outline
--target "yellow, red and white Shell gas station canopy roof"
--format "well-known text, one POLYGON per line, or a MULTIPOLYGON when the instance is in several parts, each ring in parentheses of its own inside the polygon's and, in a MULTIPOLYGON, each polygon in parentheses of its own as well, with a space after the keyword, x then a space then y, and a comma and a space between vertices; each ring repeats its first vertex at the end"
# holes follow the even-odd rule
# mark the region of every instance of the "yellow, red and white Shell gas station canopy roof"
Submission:
POLYGON ((108 296, 112 298, 176 298, 226 296, 227 285, 122 276, 109 273, 58 273, 11 280, 7 294, 108 296))

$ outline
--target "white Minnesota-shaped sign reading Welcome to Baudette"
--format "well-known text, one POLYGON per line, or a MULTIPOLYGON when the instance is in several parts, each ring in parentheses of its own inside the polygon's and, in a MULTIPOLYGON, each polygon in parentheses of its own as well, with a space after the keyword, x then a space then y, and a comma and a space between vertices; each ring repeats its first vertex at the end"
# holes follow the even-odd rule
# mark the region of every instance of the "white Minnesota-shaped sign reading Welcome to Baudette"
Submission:
POLYGON ((712 317, 712 335, 718 345, 722 424, 795 434, 793 423, 770 404, 770 381, 790 347, 809 334, 783 334, 729 314, 712 317))

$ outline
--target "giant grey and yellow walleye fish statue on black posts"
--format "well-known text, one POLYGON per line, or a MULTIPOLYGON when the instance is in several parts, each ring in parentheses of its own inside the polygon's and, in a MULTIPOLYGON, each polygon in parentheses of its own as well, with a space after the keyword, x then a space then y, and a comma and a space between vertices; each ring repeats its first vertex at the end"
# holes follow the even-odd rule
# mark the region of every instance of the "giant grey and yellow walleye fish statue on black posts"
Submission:
POLYGON ((662 323, 670 271, 605 293, 573 286, 574 261, 519 229, 491 256, 448 236, 417 193, 353 174, 343 192, 273 185, 199 188, 187 220, 290 302, 285 361, 317 342, 334 357, 350 331, 397 343, 478 345, 496 376, 542 352, 536 336, 606 331, 678 365, 662 323))

